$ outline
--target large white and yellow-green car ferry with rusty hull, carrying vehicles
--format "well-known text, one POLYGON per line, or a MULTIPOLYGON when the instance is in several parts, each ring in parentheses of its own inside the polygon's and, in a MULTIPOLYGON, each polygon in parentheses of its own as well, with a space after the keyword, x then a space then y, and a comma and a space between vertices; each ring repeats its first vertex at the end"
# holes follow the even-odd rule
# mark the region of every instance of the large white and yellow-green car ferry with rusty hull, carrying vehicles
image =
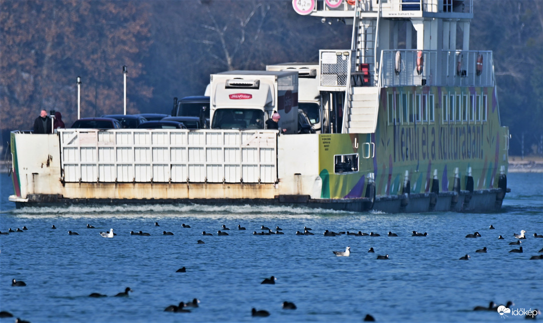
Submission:
POLYGON ((292 70, 219 73, 211 129, 12 132, 10 201, 500 210, 509 132, 492 52, 469 47, 472 0, 292 4, 352 25, 351 48, 319 51, 320 133, 293 128, 292 70))

